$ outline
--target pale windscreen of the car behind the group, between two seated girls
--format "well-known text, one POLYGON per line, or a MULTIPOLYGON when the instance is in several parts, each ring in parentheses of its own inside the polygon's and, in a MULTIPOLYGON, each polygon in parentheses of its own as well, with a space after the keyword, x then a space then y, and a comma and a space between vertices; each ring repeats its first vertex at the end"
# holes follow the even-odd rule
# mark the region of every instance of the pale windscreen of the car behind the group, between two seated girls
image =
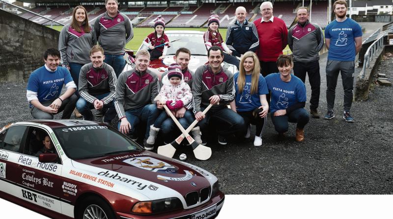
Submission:
POLYGON ((169 41, 178 40, 171 43, 167 51, 167 55, 174 55, 179 48, 190 49, 193 55, 207 55, 206 46, 203 41, 202 34, 192 33, 166 33, 169 41))

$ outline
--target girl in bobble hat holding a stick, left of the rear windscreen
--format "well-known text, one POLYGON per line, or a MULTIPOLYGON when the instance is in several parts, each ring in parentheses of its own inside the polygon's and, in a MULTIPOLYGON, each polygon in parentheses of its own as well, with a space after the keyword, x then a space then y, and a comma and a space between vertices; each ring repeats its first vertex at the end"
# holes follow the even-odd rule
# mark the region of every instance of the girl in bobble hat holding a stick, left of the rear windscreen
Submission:
POLYGON ((161 17, 161 15, 154 20, 153 27, 154 33, 150 33, 146 37, 146 39, 143 41, 143 45, 149 48, 150 60, 155 60, 157 58, 161 60, 167 54, 169 43, 168 36, 164 33, 165 20, 161 17), (164 43, 164 46, 155 48, 156 46, 162 45, 164 43))

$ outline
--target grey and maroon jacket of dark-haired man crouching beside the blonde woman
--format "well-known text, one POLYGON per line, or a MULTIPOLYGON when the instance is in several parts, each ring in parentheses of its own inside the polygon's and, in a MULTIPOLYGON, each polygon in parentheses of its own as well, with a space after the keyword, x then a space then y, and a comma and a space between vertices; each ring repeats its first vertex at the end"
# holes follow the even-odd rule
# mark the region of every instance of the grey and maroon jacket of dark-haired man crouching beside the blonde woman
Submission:
POLYGON ((192 92, 194 114, 200 111, 201 105, 209 105, 209 98, 213 95, 220 96, 220 104, 212 108, 227 105, 235 98, 233 74, 223 68, 218 73, 213 73, 209 64, 199 66, 193 77, 192 92))

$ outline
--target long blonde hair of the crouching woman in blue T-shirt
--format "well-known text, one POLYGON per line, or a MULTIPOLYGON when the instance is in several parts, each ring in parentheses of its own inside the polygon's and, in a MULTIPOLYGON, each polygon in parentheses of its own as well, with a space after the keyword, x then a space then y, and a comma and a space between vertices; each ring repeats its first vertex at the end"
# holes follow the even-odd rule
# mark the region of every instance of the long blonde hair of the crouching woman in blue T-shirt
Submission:
POLYGON ((246 70, 244 70, 244 60, 246 60, 246 58, 249 57, 252 57, 254 61, 254 69, 253 72, 251 73, 251 94, 253 95, 258 92, 260 67, 259 67, 258 57, 252 51, 248 51, 244 53, 242 59, 240 60, 239 76, 237 77, 237 87, 238 87, 238 92, 242 93, 243 88, 246 85, 246 70))

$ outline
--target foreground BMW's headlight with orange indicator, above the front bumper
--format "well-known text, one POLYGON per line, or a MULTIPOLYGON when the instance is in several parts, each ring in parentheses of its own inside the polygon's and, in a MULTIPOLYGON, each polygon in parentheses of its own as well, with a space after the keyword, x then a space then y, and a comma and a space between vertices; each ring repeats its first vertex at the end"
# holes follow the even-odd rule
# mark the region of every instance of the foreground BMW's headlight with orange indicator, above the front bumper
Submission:
POLYGON ((153 201, 140 201, 134 205, 132 212, 138 214, 152 214, 181 209, 183 205, 176 197, 153 201))

